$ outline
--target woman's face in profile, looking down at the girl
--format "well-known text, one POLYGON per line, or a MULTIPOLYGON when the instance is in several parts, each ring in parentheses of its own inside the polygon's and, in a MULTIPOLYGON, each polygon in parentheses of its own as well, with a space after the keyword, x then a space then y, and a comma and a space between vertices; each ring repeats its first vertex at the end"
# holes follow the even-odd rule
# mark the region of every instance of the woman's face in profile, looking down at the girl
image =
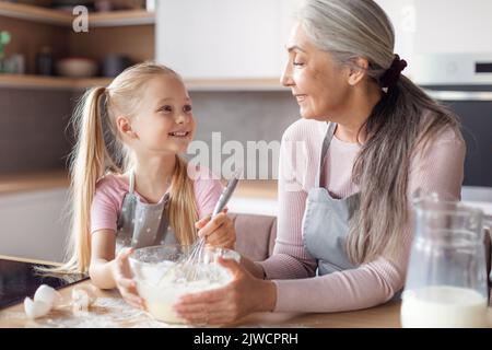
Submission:
POLYGON ((327 120, 343 110, 350 85, 348 69, 314 46, 300 24, 292 31, 281 82, 292 90, 306 119, 327 120))

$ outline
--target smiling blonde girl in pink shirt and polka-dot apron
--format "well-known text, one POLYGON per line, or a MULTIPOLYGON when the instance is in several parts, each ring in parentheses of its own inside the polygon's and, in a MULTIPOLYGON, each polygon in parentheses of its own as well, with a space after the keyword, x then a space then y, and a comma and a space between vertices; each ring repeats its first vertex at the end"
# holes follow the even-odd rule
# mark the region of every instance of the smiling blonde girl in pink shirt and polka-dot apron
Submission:
POLYGON ((233 223, 225 212, 213 220, 207 215, 221 183, 203 170, 192 180, 178 155, 196 125, 191 100, 176 72, 153 63, 127 69, 108 88, 85 94, 74 126, 71 258, 66 269, 89 271, 96 287, 116 287, 128 303, 143 307, 129 273, 133 248, 191 244, 196 228, 208 244, 233 248, 233 223))

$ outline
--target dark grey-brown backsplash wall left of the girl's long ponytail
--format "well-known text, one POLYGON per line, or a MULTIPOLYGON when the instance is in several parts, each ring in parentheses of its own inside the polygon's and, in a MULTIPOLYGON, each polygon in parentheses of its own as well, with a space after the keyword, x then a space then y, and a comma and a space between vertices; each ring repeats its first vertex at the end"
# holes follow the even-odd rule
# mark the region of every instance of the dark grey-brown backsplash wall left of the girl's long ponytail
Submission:
POLYGON ((68 91, 0 90, 0 173, 66 164, 71 97, 68 91))

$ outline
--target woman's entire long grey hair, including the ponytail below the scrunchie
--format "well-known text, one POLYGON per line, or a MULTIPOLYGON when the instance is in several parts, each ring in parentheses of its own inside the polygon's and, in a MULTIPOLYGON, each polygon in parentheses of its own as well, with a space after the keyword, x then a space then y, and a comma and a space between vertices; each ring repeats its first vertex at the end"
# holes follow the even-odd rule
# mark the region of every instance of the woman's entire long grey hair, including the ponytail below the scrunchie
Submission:
MULTIPOLYGON (((376 82, 391 67, 395 31, 373 0, 305 0, 296 18, 313 44, 340 66, 364 58, 366 74, 376 82)), ((383 94, 363 126, 366 141, 352 171, 361 189, 347 242, 353 262, 398 252, 410 218, 411 158, 449 127, 460 137, 457 117, 405 75, 383 94)))

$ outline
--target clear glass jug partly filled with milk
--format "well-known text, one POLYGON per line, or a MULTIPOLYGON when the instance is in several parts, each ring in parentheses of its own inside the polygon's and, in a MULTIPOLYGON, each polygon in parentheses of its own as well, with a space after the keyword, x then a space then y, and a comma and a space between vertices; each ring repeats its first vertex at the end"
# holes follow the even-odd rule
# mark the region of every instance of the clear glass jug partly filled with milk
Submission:
POLYGON ((483 212, 434 196, 417 199, 414 213, 401 325, 488 327, 483 212))

